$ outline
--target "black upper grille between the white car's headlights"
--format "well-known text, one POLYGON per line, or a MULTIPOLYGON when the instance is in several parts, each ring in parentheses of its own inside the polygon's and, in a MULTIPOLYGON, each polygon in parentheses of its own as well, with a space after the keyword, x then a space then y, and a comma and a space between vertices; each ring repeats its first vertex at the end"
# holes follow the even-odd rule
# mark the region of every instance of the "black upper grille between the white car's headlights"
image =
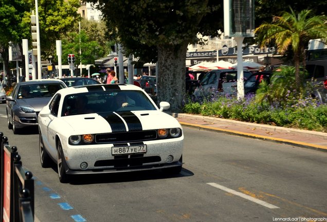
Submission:
POLYGON ((155 140, 157 138, 156 131, 134 131, 110 134, 97 134, 95 136, 96 143, 119 143, 119 142, 137 142, 155 140))

